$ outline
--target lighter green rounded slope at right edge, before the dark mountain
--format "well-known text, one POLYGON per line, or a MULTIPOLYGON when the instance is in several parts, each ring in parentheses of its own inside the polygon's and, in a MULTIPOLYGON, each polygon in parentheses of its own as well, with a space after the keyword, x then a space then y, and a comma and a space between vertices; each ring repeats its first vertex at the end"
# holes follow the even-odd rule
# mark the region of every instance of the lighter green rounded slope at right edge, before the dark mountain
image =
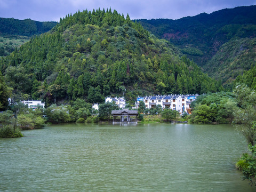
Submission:
POLYGON ((232 86, 236 77, 256 63, 256 38, 238 38, 223 44, 205 65, 212 77, 232 86))

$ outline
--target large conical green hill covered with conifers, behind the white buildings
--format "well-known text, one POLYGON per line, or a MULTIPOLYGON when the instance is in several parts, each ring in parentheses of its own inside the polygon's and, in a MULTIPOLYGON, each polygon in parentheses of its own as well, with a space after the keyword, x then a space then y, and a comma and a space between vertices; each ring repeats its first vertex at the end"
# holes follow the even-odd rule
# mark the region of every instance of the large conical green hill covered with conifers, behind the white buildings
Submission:
POLYGON ((164 39, 129 15, 104 9, 67 15, 49 33, 33 37, 0 69, 15 97, 102 102, 103 96, 205 93, 222 89, 164 39))

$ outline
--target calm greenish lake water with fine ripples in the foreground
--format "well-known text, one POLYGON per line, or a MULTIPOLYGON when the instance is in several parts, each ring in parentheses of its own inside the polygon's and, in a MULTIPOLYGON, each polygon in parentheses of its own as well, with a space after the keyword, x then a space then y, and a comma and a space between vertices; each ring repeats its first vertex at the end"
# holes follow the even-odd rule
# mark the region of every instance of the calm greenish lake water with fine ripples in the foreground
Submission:
POLYGON ((230 125, 52 125, 0 139, 0 191, 255 191, 230 125))

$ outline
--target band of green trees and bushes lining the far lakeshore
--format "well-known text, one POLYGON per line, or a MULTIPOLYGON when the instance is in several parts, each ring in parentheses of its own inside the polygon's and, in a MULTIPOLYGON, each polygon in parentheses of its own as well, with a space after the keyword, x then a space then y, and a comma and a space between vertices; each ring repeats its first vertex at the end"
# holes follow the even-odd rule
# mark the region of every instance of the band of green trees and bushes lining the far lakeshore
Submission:
MULTIPOLYGON (((248 122, 245 116, 248 113, 255 113, 256 96, 253 90, 244 84, 237 84, 233 92, 219 92, 199 95, 191 103, 192 113, 179 114, 172 109, 162 109, 160 106, 147 109, 145 103, 140 102, 138 110, 139 123, 233 123, 246 124, 248 122), (248 109, 249 108, 249 109, 248 109)), ((127 108, 132 109, 131 104, 127 108)), ((68 105, 53 104, 47 108, 37 108, 36 110, 28 109, 23 103, 10 105, 8 110, 0 113, 0 126, 17 127, 20 130, 38 129, 45 126, 46 123, 98 123, 111 122, 111 111, 118 110, 115 103, 102 103, 99 110, 93 110, 90 103, 83 99, 69 101, 68 105), (15 125, 13 125, 15 119, 15 125)), ((255 113, 256 114, 256 113, 255 113)), ((253 121, 256 120, 251 117, 253 121)))

